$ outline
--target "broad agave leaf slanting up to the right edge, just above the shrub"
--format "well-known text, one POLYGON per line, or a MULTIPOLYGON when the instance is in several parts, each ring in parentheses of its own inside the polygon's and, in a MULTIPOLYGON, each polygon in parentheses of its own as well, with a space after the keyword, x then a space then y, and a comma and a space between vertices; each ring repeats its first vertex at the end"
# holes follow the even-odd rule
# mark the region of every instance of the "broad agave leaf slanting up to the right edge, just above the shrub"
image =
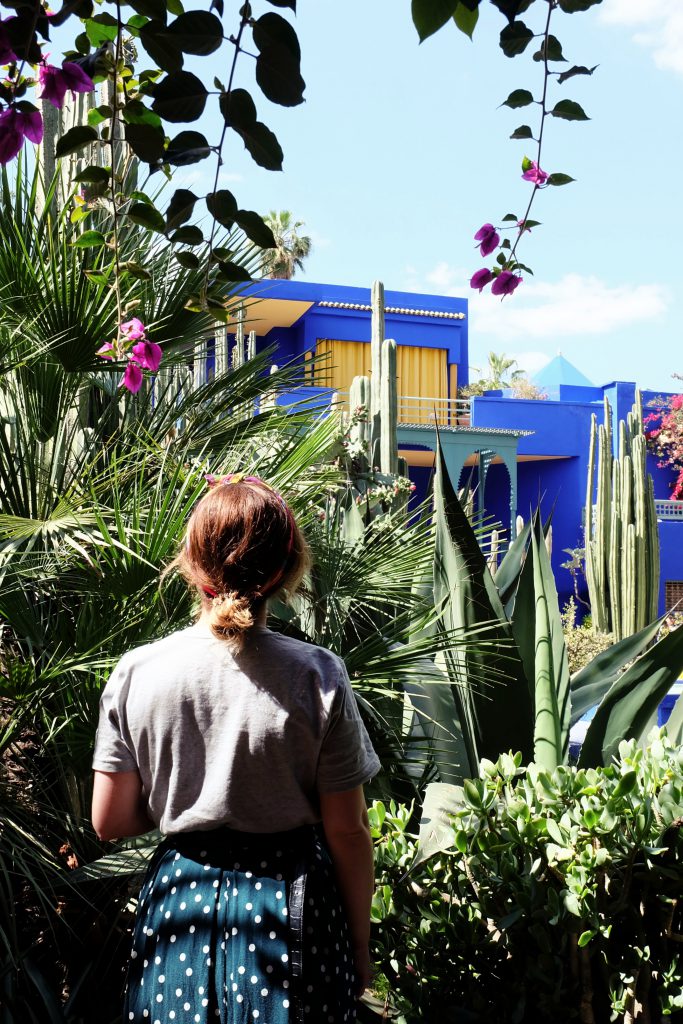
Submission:
MULTIPOLYGON (((606 766, 616 755, 623 739, 640 740, 657 706, 681 672, 683 629, 672 630, 658 640, 613 683, 588 727, 579 755, 579 767, 606 766)), ((677 721, 678 715, 674 727, 677 721)))

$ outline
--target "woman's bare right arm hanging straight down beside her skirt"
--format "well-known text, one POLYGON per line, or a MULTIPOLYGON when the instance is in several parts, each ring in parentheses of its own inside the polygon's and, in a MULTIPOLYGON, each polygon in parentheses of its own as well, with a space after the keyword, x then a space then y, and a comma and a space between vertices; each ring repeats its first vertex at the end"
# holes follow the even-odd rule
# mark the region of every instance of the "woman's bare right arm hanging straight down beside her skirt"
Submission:
POLYGON ((345 793, 321 793, 323 826, 346 908, 357 994, 370 984, 370 907, 375 891, 373 841, 362 786, 345 793))

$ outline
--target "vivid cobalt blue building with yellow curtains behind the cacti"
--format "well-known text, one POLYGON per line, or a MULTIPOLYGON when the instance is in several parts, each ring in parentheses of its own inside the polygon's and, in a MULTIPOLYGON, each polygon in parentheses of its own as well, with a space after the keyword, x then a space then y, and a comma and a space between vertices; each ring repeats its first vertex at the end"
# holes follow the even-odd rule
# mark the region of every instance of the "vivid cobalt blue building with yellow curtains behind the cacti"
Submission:
MULTIPOLYGON (((553 568, 560 601, 572 592, 564 549, 583 547, 583 509, 591 417, 602 422, 606 395, 614 423, 633 406, 636 385, 591 382, 558 354, 535 378, 544 400, 509 391, 458 397, 468 384, 467 300, 385 293, 386 336, 397 344, 398 443, 422 490, 433 466, 435 421, 449 469, 477 486, 480 507, 506 528, 541 502, 553 512, 553 568)), ((263 281, 246 298, 247 330, 257 347, 276 346, 275 360, 311 360, 305 387, 292 399, 329 401, 370 374, 370 289, 307 282, 263 281), (313 359, 313 357, 316 357, 313 359)), ((645 406, 656 397, 643 392, 645 406)), ((287 400, 287 396, 285 399, 287 400)), ((650 457, 661 549, 660 608, 683 599, 683 502, 670 501, 672 474, 650 457)))

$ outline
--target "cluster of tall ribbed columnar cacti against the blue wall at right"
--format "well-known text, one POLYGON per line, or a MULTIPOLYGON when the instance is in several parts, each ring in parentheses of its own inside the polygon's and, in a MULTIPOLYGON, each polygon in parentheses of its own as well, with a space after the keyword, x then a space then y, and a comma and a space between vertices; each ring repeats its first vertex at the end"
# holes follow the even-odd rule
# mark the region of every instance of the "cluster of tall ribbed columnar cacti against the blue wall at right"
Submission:
POLYGON ((598 426, 595 415, 591 422, 586 581, 594 630, 622 640, 656 618, 659 537, 640 392, 626 422, 620 421, 616 456, 611 409, 604 401, 604 423, 598 426))

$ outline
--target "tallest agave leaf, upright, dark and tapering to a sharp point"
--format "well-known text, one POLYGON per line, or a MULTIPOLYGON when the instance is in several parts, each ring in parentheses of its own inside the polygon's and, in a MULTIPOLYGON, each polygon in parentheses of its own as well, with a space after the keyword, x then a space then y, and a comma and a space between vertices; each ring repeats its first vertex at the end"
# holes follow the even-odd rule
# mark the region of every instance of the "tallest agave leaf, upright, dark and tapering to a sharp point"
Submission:
POLYGON ((493 650, 465 650, 447 657, 455 684, 463 736, 469 752, 468 775, 480 757, 496 760, 502 751, 532 755, 532 711, 524 668, 496 585, 476 536, 451 482, 438 446, 434 482, 434 596, 445 629, 469 630, 488 624, 493 650), (485 659, 485 667, 482 664, 485 659), (500 684, 477 686, 485 674, 500 684))

